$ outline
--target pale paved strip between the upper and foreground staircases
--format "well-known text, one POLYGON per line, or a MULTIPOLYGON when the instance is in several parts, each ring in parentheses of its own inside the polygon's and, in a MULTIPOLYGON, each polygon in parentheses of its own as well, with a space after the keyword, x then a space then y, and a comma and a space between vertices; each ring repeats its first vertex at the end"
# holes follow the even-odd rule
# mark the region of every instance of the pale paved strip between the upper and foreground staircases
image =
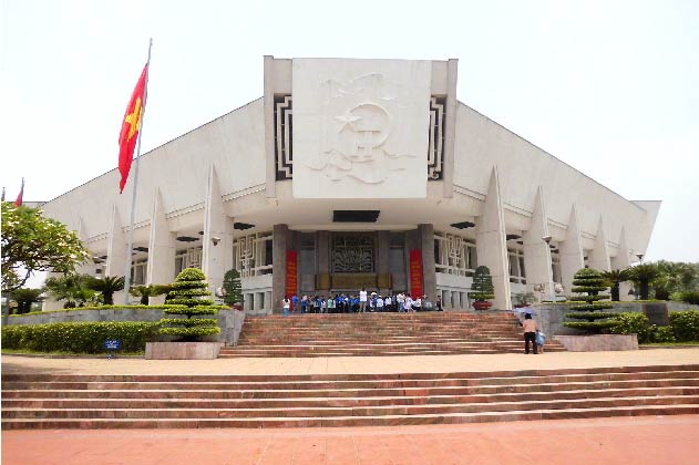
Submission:
POLYGON ((54 374, 343 374, 444 373, 498 370, 556 370, 699 363, 699 348, 624 352, 548 352, 538 355, 249 358, 217 360, 144 360, 104 358, 2 356, 2 372, 54 374))

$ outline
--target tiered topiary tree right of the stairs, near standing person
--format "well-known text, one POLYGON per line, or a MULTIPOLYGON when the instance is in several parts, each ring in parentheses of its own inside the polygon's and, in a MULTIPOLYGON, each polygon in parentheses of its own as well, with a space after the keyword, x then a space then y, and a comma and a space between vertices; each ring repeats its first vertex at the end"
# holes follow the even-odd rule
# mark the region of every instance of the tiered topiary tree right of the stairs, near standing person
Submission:
POLYGON ((600 302, 600 300, 608 299, 609 296, 599 294, 599 292, 608 289, 599 271, 592 268, 578 270, 573 278, 573 292, 584 292, 585 294, 573 296, 568 300, 585 303, 570 306, 570 310, 575 310, 575 312, 566 313, 566 318, 585 321, 567 321, 563 323, 564 327, 584 330, 590 334, 599 334, 615 324, 614 320, 610 319, 615 313, 599 311, 613 308, 608 302, 600 302))

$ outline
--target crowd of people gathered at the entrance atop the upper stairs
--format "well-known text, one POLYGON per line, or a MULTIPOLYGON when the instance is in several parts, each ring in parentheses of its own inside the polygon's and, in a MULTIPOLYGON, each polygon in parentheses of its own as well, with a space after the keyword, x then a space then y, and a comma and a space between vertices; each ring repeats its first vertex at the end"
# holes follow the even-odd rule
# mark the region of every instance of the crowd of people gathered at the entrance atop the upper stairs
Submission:
POLYGON ((281 306, 284 313, 363 313, 363 312, 418 312, 442 311, 442 299, 428 300, 428 296, 413 297, 409 292, 381 296, 362 288, 358 293, 325 296, 286 296, 281 306))

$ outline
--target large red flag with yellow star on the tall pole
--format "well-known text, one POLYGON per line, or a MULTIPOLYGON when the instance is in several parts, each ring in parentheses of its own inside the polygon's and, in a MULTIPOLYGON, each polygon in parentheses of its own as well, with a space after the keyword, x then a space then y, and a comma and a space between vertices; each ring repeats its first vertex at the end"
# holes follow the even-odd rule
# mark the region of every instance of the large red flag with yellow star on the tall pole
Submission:
POLYGON ((124 190, 126 179, 129 178, 129 170, 131 169, 131 161, 133 159, 134 147, 138 140, 138 131, 141 130, 141 117, 143 116, 143 108, 145 107, 145 86, 148 75, 148 65, 146 64, 138 78, 136 87, 134 89, 129 106, 126 106, 126 114, 122 122, 122 132, 119 135, 119 172, 122 178, 119 183, 119 193, 124 190))

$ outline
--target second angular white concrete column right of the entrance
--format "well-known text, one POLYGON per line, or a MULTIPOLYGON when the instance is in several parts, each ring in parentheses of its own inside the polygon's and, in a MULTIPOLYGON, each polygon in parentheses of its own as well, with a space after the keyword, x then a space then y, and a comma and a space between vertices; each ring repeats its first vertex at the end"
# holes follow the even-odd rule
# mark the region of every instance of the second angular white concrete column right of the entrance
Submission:
POLYGON ((546 236, 549 236, 548 215, 544 202, 544 190, 542 186, 538 186, 530 228, 522 235, 526 288, 532 291, 534 285, 544 285, 544 296, 553 296, 554 290, 551 289, 551 286, 554 278, 551 266, 551 248, 543 239, 546 236))

